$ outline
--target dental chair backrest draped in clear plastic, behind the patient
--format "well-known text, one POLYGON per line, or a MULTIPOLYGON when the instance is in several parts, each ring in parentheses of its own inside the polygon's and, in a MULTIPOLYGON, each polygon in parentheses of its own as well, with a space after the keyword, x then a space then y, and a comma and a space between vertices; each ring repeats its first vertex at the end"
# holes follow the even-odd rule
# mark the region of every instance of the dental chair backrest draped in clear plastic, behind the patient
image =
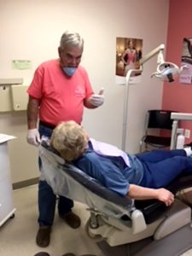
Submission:
POLYGON ((134 201, 105 188, 96 179, 79 168, 64 163, 61 156, 46 142, 39 146, 41 158, 41 180, 46 180, 55 195, 67 196, 85 203, 102 215, 120 218, 130 215, 134 201))

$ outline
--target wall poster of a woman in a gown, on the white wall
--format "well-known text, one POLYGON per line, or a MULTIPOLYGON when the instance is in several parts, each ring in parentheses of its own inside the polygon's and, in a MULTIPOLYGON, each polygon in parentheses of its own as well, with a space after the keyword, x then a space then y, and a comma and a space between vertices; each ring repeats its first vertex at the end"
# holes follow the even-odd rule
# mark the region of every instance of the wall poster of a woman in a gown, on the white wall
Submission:
MULTIPOLYGON (((142 58, 143 39, 116 38, 116 83, 125 84, 126 73, 130 69, 139 69, 142 58)), ((135 84, 141 73, 131 73, 131 83, 135 84)))

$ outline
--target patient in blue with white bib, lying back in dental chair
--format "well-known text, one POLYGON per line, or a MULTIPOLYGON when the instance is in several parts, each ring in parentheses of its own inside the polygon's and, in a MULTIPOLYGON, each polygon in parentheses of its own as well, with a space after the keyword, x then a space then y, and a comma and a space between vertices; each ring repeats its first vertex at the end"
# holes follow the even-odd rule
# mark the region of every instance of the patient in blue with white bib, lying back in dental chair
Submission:
POLYGON ((108 189, 136 200, 157 199, 170 206, 174 195, 164 187, 180 174, 192 174, 191 148, 126 154, 89 138, 74 121, 57 125, 50 144, 64 160, 108 189))

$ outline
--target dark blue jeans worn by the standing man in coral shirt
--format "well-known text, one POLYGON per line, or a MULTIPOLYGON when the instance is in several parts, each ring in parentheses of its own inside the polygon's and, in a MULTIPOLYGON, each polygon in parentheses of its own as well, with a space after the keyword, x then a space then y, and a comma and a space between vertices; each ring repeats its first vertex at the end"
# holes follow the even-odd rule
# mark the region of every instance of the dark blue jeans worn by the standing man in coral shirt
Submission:
MULTIPOLYGON (((44 125, 39 125, 39 133, 42 137, 50 137, 52 129, 45 127, 44 125)), ((41 159, 38 158, 38 165, 40 169, 41 159)), ((53 190, 45 181, 39 181, 38 183, 38 224, 40 226, 51 226, 54 222, 55 217, 55 204, 56 195, 53 190)), ((58 212, 63 215, 67 212, 71 212, 73 207, 73 201, 64 196, 59 196, 58 201, 58 212)))

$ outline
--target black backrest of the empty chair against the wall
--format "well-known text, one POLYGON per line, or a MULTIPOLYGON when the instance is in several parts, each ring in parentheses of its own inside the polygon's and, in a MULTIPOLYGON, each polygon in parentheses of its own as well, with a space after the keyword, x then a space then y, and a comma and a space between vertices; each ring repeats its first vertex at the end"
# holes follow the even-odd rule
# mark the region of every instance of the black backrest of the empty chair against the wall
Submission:
POLYGON ((148 110, 148 125, 147 128, 159 128, 172 130, 172 110, 154 109, 148 110))

